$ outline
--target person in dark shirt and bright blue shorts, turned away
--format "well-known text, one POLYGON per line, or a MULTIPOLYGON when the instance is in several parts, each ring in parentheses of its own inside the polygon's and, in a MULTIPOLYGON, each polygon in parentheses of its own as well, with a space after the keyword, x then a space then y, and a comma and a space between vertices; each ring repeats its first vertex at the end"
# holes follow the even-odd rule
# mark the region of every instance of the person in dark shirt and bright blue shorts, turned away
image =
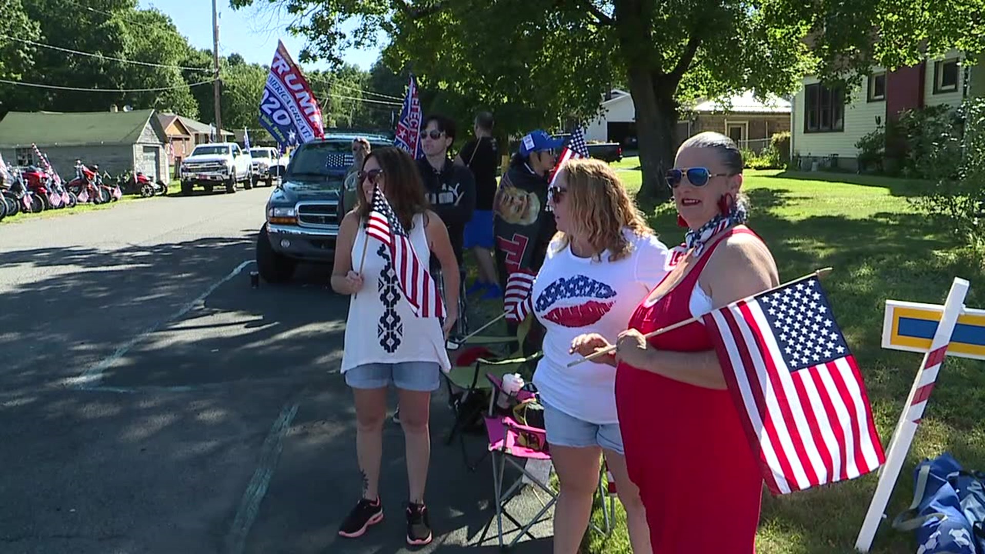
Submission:
POLYGON ((483 300, 502 296, 493 258, 493 197, 496 189, 496 166, 499 164, 499 149, 493 138, 493 124, 493 114, 489 111, 477 114, 474 125, 476 138, 465 143, 455 158, 455 164, 469 168, 476 177, 476 211, 465 226, 464 246, 475 253, 479 276, 466 293, 471 295, 486 291, 483 300))

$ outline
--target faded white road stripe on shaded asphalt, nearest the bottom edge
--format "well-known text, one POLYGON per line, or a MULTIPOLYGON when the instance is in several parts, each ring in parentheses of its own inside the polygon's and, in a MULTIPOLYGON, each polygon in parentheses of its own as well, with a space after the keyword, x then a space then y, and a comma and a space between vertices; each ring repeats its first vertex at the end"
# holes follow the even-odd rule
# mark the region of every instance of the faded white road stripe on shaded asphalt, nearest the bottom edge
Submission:
POLYGON ((243 493, 242 501, 239 502, 239 509, 236 510, 236 517, 232 519, 232 528, 226 538, 227 554, 242 554, 246 547, 249 529, 253 526, 253 521, 256 520, 256 515, 260 511, 263 497, 267 494, 267 486, 270 485, 270 479, 274 475, 277 460, 281 457, 281 451, 284 450, 284 436, 291 429, 291 422, 294 421, 296 414, 297 404, 285 406, 281 410, 280 417, 274 422, 274 426, 270 428, 267 439, 263 442, 263 448, 260 450, 260 464, 246 486, 246 492, 243 493))

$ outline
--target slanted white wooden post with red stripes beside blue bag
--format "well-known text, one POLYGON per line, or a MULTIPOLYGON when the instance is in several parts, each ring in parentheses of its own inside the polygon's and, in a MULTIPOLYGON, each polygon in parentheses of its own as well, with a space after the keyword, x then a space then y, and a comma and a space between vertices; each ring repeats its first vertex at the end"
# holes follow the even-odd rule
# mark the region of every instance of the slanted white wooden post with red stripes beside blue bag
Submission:
POLYGON ((948 300, 944 305, 944 312, 941 314, 941 322, 934 333, 930 348, 924 354, 923 363, 921 363, 917 376, 913 380, 910 394, 906 398, 906 405, 903 406, 903 412, 899 414, 899 421, 896 423, 896 429, 889 441, 886 464, 879 471, 879 483, 876 485, 876 492, 873 494, 869 511, 866 513, 862 528, 859 530, 858 538, 855 541, 855 549, 859 552, 868 552, 872 547, 876 529, 879 528, 879 522, 883 519, 892 488, 899 477, 899 470, 906 459, 906 453, 910 450, 913 436, 917 432, 920 419, 927 407, 930 392, 934 389, 934 383, 944 365, 954 326, 957 324, 957 316, 964 310, 964 297, 967 293, 968 282, 955 277, 951 285, 951 292, 948 293, 948 300))

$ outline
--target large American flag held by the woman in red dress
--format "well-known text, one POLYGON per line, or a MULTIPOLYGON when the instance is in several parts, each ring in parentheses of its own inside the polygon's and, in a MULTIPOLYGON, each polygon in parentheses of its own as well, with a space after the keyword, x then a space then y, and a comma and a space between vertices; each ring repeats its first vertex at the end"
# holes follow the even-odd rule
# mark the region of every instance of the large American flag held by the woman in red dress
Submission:
POLYGON ((886 461, 862 375, 817 277, 702 319, 774 495, 886 461))

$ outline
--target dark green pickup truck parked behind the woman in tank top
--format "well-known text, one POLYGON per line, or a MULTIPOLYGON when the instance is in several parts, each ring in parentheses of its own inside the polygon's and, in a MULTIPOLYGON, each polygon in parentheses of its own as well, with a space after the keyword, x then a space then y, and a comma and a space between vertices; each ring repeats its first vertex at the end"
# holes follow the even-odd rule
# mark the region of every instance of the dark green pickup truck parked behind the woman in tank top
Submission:
POLYGON ((264 281, 290 281, 298 262, 335 260, 339 224, 355 206, 356 185, 348 190, 345 181, 356 136, 366 138, 372 149, 393 145, 384 135, 332 133, 301 144, 292 154, 267 200, 267 221, 256 241, 257 270, 264 281))

